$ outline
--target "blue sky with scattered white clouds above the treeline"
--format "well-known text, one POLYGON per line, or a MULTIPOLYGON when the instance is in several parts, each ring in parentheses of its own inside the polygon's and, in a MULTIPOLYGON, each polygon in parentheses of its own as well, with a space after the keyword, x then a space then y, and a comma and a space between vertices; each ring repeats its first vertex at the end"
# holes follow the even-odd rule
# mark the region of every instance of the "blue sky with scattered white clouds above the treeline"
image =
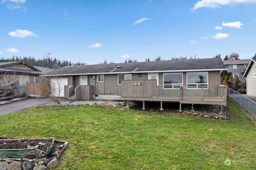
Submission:
POLYGON ((0 57, 123 63, 256 53, 256 0, 0 0, 0 57))

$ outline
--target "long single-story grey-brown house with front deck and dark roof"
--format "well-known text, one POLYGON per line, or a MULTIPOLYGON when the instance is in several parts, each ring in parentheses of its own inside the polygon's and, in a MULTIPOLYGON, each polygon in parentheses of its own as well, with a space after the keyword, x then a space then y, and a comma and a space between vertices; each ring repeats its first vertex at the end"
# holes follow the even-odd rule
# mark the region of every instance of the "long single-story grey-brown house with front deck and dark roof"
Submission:
POLYGON ((56 86, 61 84, 56 88, 62 97, 76 100, 226 104, 226 86, 219 86, 221 70, 227 70, 221 59, 212 58, 65 66, 47 75, 54 76, 56 86), (184 96, 198 97, 199 101, 191 102, 184 96), (220 97, 221 102, 207 101, 206 96, 220 97))

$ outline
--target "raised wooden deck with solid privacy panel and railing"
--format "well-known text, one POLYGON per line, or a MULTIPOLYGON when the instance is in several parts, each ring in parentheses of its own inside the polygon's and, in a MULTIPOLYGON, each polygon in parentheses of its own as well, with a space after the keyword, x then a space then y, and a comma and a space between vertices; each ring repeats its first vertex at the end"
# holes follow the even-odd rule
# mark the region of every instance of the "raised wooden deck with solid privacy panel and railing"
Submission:
POLYGON ((122 81, 121 100, 127 101, 226 105, 226 96, 227 87, 221 85, 205 86, 202 88, 180 86, 180 89, 164 89, 163 86, 156 85, 156 80, 122 81), (177 90, 179 92, 178 95, 177 90), (165 91, 166 94, 163 94, 163 91, 165 91))

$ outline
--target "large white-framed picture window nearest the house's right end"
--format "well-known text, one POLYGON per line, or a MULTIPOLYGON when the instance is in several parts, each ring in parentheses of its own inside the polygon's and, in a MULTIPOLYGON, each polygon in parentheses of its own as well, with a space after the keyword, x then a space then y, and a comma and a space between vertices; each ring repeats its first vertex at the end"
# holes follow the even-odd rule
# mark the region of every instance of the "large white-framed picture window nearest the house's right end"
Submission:
POLYGON ((188 88, 208 88, 208 72, 187 72, 188 88))

